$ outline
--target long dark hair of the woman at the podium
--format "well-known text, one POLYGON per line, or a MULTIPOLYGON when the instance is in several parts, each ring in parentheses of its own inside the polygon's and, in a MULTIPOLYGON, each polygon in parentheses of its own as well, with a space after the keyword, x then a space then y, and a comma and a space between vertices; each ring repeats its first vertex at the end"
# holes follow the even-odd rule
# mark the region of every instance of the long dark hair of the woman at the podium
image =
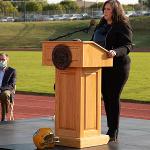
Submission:
MULTIPOLYGON (((112 7, 112 24, 116 24, 116 23, 119 23, 119 22, 129 24, 129 20, 125 16, 124 9, 123 9, 122 5, 120 4, 120 2, 117 1, 117 0, 107 0, 103 4, 103 7, 102 7, 103 13, 104 13, 105 5, 108 4, 108 3, 112 7)), ((103 24, 104 22, 106 22, 106 20, 103 17, 100 21, 100 24, 103 24)))

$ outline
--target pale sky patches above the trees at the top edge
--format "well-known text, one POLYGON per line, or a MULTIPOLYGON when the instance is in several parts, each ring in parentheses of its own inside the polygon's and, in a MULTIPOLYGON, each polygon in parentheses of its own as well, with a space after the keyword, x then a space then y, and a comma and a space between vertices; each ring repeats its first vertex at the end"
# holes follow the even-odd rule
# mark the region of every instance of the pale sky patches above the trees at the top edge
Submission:
MULTIPOLYGON (((49 3, 59 3, 63 0, 48 0, 49 3)), ((102 2, 105 0, 85 0, 85 1, 90 1, 90 2, 102 2)), ((138 3, 138 0, 119 0, 122 4, 135 4, 138 3)))

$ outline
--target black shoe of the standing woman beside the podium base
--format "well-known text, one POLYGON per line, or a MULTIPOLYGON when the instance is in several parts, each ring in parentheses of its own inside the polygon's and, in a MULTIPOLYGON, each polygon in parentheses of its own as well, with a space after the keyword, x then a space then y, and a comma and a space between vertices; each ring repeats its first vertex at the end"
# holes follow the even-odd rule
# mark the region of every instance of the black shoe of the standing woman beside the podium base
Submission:
POLYGON ((109 135, 109 142, 117 142, 117 138, 118 138, 118 129, 109 129, 107 134, 106 135, 109 135))

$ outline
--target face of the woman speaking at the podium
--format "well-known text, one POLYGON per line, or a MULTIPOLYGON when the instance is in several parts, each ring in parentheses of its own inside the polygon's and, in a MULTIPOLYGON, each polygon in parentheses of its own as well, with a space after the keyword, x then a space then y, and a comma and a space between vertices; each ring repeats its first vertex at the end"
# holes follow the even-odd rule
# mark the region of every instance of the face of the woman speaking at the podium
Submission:
POLYGON ((109 3, 104 6, 104 18, 107 23, 112 23, 112 7, 109 3))

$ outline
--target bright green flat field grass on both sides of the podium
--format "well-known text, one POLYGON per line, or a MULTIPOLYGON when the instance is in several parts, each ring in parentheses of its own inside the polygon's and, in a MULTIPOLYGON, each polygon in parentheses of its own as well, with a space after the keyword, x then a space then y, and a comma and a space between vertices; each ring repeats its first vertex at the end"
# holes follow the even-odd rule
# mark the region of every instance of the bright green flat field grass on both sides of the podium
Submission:
MULTIPOLYGON (((55 69, 42 66, 42 53, 8 51, 10 65, 17 69, 17 91, 54 94, 55 69)), ((150 53, 130 53, 132 66, 122 99, 150 102, 150 53)))

